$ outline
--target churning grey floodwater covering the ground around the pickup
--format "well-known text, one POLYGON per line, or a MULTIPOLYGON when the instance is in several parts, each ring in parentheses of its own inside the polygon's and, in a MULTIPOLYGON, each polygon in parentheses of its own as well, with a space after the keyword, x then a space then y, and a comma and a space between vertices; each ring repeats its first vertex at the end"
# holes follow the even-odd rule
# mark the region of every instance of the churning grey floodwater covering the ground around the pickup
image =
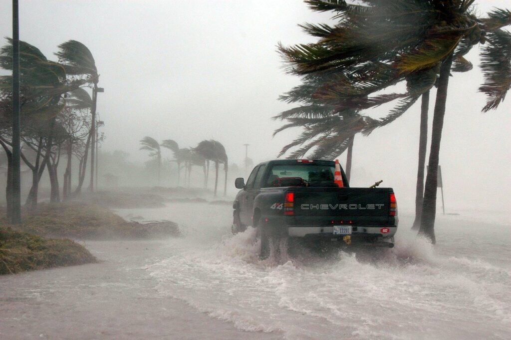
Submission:
POLYGON ((439 215, 432 246, 405 214, 392 249, 260 261, 228 205, 116 212, 184 236, 86 242, 102 263, 0 277, 0 338, 511 338, 506 216, 439 215))

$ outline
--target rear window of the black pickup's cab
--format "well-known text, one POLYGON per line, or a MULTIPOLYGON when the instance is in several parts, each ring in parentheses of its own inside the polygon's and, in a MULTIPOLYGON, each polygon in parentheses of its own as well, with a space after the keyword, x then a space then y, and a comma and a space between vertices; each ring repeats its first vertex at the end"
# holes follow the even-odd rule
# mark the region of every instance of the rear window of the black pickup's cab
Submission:
POLYGON ((335 167, 317 164, 274 165, 265 187, 337 187, 335 167))

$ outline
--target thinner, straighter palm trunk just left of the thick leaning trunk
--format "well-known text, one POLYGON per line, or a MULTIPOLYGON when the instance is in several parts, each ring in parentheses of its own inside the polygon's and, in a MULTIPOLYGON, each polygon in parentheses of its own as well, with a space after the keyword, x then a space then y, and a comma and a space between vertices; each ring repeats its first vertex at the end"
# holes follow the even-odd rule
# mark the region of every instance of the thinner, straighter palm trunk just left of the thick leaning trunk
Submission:
POLYGON ((422 216, 422 202, 424 200, 424 167, 426 163, 426 149, 428 145, 428 110, 429 90, 422 95, 421 127, 419 132, 419 165, 417 166, 417 185, 415 187, 415 220, 412 230, 419 230, 422 216))

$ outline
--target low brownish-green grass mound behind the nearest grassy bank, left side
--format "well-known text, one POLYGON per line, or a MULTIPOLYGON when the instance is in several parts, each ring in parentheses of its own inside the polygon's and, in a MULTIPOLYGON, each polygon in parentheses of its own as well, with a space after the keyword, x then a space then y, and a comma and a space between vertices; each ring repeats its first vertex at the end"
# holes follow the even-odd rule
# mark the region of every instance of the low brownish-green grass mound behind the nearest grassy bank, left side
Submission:
MULTIPOLYGON (((3 221, 7 223, 5 215, 3 221)), ((78 202, 39 204, 35 211, 24 209, 22 224, 11 227, 44 237, 73 239, 148 239, 180 235, 174 222, 163 226, 129 223, 108 208, 78 202)))

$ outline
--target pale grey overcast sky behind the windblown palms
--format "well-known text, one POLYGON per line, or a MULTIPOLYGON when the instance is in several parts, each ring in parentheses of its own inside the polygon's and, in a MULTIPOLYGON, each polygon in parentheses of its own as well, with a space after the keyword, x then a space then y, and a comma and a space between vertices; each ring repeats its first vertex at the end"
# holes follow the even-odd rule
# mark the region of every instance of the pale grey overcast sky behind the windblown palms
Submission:
MULTIPOLYGON (((508 0, 478 1, 484 13, 508 0)), ((0 2, 2 36, 12 36, 11 2, 0 2)), ((49 59, 58 44, 83 42, 101 74, 98 112, 105 121, 105 150, 134 161, 146 135, 193 147, 203 139, 224 144, 229 161, 242 164, 243 144, 255 162, 274 158, 299 130, 271 137, 271 117, 291 106, 277 100, 299 79, 282 70, 276 44, 314 41, 297 27, 326 22, 289 1, 20 1, 20 39, 49 59)), ((478 48, 468 55, 479 63, 478 48)), ((482 114, 478 67, 450 80, 440 165, 446 207, 511 210, 511 99, 482 114)), ((430 107, 433 107, 434 93, 430 107)), ((355 140, 352 185, 383 179, 404 206, 413 206, 419 139, 416 104, 398 121, 355 140)), ((389 107, 368 112, 386 115, 389 107)), ((432 112, 430 114, 431 123, 432 112)), ((170 157, 170 154, 168 155, 170 157)), ((345 156, 341 156, 344 162, 345 156)))

